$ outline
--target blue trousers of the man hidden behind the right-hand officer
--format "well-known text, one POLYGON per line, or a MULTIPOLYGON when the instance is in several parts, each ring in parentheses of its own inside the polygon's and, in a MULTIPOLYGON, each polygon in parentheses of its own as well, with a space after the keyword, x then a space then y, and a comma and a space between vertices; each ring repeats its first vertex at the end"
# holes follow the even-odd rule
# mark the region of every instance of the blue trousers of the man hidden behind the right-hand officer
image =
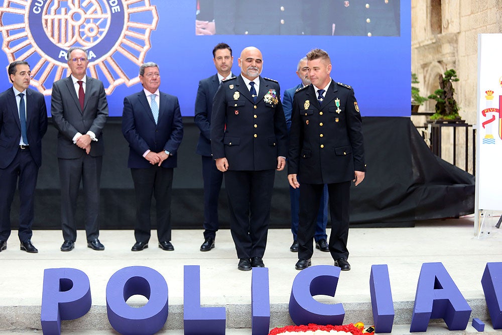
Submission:
MULTIPOLYGON (((301 181, 300 181, 301 182, 301 181)), ((300 189, 289 187, 289 197, 291 201, 291 233, 293 240, 297 240, 298 235, 298 212, 300 207, 300 189)), ((321 196, 321 204, 317 212, 317 220, 315 226, 315 242, 327 240, 326 225, 328 223, 328 185, 324 185, 321 196)))

